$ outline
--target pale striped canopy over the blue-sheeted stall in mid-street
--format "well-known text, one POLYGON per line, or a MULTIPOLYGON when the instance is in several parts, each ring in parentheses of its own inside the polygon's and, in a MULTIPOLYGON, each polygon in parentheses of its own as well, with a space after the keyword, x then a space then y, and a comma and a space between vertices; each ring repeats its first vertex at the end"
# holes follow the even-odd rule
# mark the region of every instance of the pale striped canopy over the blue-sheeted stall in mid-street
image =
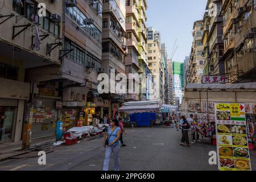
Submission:
POLYGON ((160 110, 161 101, 137 101, 137 102, 126 102, 121 108, 118 109, 119 112, 125 113, 143 113, 152 112, 160 110))

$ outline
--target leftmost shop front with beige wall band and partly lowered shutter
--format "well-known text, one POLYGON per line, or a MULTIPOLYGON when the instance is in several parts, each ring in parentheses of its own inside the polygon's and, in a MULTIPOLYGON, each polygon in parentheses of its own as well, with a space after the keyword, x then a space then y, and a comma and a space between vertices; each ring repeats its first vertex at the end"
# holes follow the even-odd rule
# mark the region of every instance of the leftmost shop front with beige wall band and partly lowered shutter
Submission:
POLYGON ((18 142, 22 138, 24 105, 30 84, 0 78, 0 143, 18 142))

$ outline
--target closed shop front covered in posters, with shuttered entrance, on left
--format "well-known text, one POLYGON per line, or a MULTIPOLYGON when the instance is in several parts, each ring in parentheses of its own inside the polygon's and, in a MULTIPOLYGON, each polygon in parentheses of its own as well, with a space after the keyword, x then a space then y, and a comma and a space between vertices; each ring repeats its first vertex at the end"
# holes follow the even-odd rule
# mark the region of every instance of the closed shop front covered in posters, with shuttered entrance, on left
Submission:
MULTIPOLYGON (((59 82, 34 82, 34 92, 27 104, 26 123, 32 125, 31 138, 55 136, 56 122, 60 118, 59 82)), ((62 105, 62 104, 61 104, 62 105)))

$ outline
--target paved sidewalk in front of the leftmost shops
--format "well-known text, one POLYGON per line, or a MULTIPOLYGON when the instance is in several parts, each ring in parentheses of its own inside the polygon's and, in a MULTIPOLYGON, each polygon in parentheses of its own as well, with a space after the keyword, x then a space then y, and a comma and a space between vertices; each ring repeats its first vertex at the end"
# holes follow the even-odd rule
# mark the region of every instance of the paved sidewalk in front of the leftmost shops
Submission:
POLYGON ((36 149, 36 147, 55 142, 55 140, 55 136, 34 139, 32 140, 31 146, 24 150, 22 150, 22 140, 19 142, 2 143, 0 144, 0 161, 14 156, 27 154, 36 149))

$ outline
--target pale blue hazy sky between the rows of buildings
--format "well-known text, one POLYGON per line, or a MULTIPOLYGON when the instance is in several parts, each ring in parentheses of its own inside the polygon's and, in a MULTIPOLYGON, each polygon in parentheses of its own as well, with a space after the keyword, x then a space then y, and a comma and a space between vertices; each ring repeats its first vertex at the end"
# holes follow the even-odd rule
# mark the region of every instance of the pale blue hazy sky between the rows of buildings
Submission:
POLYGON ((168 58, 174 47, 179 46, 174 61, 183 61, 191 52, 193 22, 203 19, 207 0, 147 0, 147 27, 160 31, 166 43, 168 58))

